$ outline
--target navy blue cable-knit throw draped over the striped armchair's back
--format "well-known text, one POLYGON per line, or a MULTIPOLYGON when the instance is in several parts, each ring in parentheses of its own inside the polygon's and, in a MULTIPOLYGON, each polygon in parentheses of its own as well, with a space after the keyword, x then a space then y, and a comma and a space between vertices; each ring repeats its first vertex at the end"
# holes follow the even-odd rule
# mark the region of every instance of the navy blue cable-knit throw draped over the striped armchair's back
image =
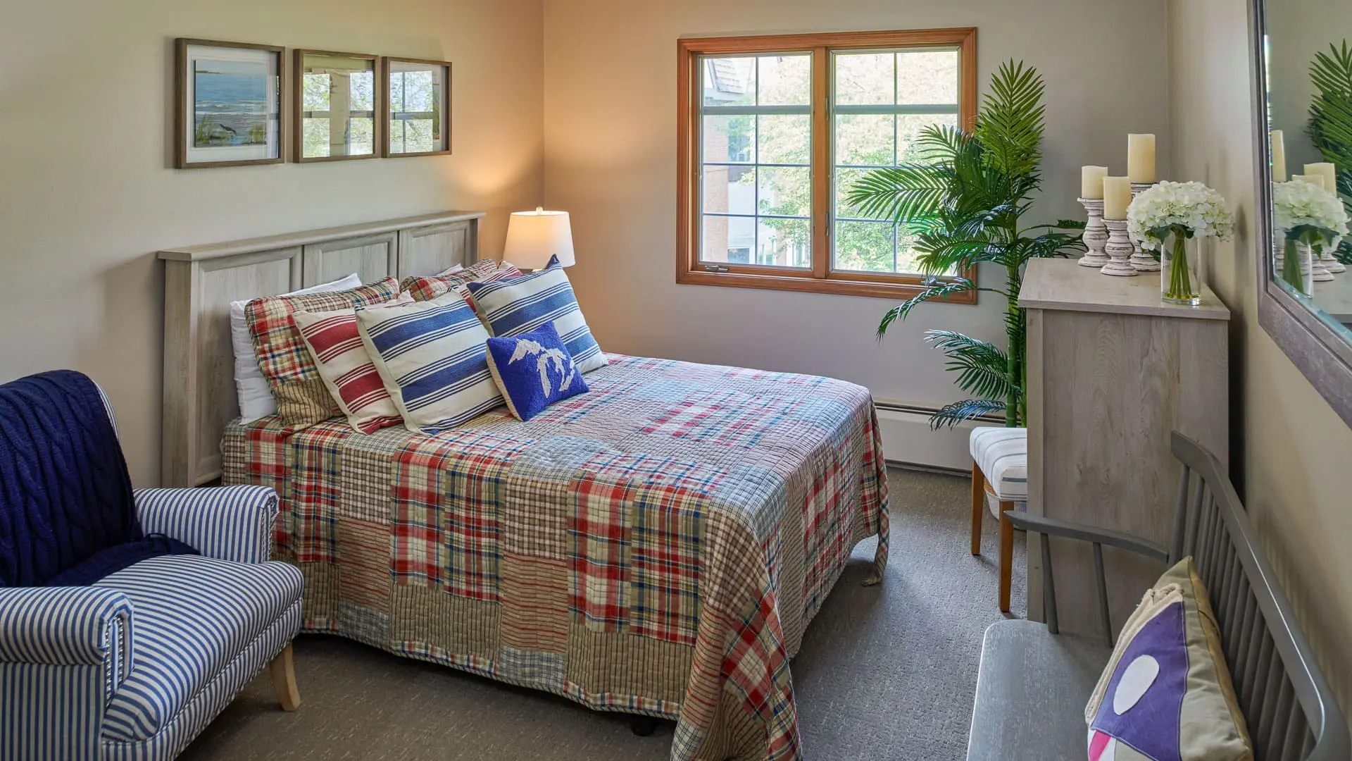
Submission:
POLYGON ((0 385, 0 586, 81 586, 185 552, 142 534, 93 380, 58 370, 0 385))

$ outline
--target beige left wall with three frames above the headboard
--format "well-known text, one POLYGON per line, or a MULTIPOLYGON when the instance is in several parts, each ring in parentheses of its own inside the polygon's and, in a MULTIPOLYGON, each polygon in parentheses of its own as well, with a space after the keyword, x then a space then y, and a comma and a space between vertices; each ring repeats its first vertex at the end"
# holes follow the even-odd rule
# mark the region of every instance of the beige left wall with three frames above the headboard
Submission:
POLYGON ((43 0, 0 27, 0 379, 70 367, 118 409, 138 485, 160 462, 154 251, 485 209, 541 194, 541 0, 43 0), (454 62, 454 156, 169 169, 176 37, 454 62))

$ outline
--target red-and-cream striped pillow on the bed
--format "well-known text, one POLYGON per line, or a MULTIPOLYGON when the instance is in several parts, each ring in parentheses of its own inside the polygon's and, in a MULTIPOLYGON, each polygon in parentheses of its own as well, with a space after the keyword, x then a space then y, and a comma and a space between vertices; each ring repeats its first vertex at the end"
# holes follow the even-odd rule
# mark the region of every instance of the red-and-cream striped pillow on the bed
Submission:
MULTIPOLYGON (((373 305, 372 309, 410 303, 414 303, 411 295, 399 294, 397 299, 373 305)), ((292 320, 349 425, 362 433, 375 433, 404 421, 361 343, 356 310, 297 311, 292 320)))

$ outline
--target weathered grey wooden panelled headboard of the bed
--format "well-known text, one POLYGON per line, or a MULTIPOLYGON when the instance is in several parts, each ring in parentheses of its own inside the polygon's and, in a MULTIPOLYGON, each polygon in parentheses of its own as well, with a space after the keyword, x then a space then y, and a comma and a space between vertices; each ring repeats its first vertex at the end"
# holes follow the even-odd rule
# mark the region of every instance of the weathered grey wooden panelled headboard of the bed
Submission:
POLYGON ((220 478, 220 437, 238 417, 230 302, 284 294, 352 272, 431 275, 479 259, 483 211, 443 211, 161 251, 165 260, 165 486, 220 478))

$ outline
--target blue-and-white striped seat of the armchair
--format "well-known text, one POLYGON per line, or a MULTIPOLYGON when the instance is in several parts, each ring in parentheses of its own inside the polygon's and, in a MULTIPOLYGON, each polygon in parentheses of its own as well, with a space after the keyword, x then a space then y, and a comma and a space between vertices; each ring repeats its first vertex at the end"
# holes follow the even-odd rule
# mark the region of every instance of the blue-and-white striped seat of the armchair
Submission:
POLYGON ((132 604, 135 662, 108 701, 104 739, 154 737, 230 661, 300 599, 287 563, 231 563, 164 555, 95 586, 132 604))

